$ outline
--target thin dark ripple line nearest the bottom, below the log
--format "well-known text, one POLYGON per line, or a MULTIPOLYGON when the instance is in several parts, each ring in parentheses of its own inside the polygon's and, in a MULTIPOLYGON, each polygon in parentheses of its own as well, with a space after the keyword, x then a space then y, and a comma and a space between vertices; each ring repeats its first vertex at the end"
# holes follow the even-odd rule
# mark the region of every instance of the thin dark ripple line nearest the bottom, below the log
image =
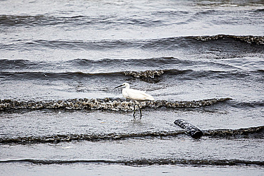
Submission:
POLYGON ((136 159, 136 160, 104 160, 104 159, 92 159, 92 160, 42 160, 42 159, 10 159, 0 160, 0 163, 8 162, 31 162, 33 164, 72 164, 72 163, 104 163, 104 164, 124 164, 124 165, 219 165, 219 166, 235 166, 235 165, 257 165, 263 166, 264 161, 250 161, 240 159, 136 159))

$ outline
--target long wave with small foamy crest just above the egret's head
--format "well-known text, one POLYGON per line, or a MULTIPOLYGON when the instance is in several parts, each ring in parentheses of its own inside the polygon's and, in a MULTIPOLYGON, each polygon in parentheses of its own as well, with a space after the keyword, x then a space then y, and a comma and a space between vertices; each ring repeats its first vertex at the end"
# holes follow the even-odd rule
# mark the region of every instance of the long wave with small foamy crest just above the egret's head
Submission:
MULTIPOLYGON (((145 71, 116 71, 116 72, 35 72, 35 71, 0 71, 0 77, 2 80, 33 80, 33 79, 42 79, 42 80, 76 80, 82 78, 117 78, 120 79, 123 77, 130 76, 135 78, 140 78, 145 80, 145 78, 151 80, 160 81, 161 79, 156 79, 162 75, 175 76, 174 79, 178 80, 191 80, 197 78, 207 77, 209 79, 242 79, 248 76, 261 74, 261 71, 243 71, 243 70, 227 70, 227 71, 218 71, 218 70, 178 70, 178 69, 158 69, 158 70, 145 70, 145 71)), ((261 78, 260 78, 261 79, 261 78)), ((89 80, 87 80, 89 81, 89 80)))

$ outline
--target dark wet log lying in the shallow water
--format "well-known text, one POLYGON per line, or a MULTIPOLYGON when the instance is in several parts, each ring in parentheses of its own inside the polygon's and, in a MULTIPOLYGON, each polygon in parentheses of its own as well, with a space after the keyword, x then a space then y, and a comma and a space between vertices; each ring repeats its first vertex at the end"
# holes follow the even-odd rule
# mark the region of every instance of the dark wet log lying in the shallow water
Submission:
POLYGON ((175 120, 174 123, 183 129, 189 130, 189 135, 193 138, 203 136, 203 132, 200 129, 194 127, 183 119, 175 120))

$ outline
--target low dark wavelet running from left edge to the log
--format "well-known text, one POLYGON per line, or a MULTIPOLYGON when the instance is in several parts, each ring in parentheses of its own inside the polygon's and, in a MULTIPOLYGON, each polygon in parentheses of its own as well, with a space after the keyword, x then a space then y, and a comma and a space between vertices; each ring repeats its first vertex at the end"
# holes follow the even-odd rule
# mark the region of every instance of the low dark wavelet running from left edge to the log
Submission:
POLYGON ((129 133, 129 134, 57 134, 50 136, 25 136, 17 138, 0 138, 0 143, 9 144, 26 144, 26 143, 58 143, 58 142, 70 142, 75 140, 86 140, 86 141, 102 141, 102 140, 124 140, 129 138, 149 138, 149 137, 170 137, 184 134, 186 131, 157 131, 157 132, 141 132, 141 133, 129 133))

